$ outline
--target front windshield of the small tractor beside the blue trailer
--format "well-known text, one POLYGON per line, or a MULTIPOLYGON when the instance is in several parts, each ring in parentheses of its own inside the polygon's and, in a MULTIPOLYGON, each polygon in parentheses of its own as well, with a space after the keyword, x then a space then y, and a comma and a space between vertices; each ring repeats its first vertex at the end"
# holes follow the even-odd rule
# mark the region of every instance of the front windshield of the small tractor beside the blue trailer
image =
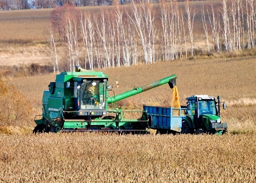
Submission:
POLYGON ((199 115, 213 114, 216 115, 216 106, 214 100, 200 100, 198 101, 199 115))

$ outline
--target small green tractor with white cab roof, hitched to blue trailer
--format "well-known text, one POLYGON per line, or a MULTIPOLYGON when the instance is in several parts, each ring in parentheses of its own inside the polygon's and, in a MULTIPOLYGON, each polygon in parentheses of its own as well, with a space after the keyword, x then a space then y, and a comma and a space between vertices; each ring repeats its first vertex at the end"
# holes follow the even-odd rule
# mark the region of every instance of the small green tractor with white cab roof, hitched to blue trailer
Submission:
POLYGON ((183 134, 224 134, 227 123, 221 122, 221 103, 226 109, 226 103, 208 95, 193 95, 187 97, 186 116, 182 119, 181 133, 183 134))

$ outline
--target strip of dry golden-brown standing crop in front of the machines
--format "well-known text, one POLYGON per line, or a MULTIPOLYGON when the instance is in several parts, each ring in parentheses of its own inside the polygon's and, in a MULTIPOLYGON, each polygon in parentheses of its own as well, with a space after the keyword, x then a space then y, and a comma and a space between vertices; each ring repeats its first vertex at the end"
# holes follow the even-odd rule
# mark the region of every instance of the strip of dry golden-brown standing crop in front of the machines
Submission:
POLYGON ((0 182, 255 182, 256 136, 0 135, 0 182))

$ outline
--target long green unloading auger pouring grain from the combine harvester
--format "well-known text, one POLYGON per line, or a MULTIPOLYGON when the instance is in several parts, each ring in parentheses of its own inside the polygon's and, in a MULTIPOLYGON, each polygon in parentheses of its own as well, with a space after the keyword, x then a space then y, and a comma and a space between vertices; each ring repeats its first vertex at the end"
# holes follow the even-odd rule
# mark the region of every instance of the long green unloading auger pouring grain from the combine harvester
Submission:
POLYGON ((125 99, 127 97, 131 97, 135 94, 139 94, 139 93, 145 92, 147 90, 153 89, 157 86, 164 85, 166 83, 168 83, 170 88, 172 89, 176 86, 176 78, 177 78, 176 74, 173 74, 171 76, 168 76, 168 77, 165 77, 163 79, 157 80, 153 83, 150 83, 150 84, 138 87, 138 88, 134 88, 134 89, 129 90, 127 92, 124 92, 122 94, 118 94, 118 95, 113 96, 113 97, 107 97, 107 102, 108 103, 114 103, 114 102, 117 102, 119 100, 125 99))

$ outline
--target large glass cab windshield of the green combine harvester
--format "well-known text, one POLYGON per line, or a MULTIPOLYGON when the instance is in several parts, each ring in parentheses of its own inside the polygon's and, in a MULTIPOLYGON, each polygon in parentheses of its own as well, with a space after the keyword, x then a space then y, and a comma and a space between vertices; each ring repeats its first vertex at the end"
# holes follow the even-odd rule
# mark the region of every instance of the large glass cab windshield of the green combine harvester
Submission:
POLYGON ((91 80, 82 83, 80 109, 105 109, 105 83, 91 80))

